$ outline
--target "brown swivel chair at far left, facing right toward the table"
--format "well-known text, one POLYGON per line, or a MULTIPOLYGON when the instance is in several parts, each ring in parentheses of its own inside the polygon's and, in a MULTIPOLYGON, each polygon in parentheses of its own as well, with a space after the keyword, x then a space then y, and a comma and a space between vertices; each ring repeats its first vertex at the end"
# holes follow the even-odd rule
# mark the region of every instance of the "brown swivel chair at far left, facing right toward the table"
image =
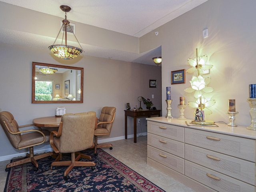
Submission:
POLYGON ((14 148, 29 148, 29 154, 26 154, 26 158, 7 164, 5 169, 6 171, 8 171, 10 167, 28 162, 32 162, 32 164, 34 164, 35 166, 34 170, 38 170, 38 163, 36 162, 36 160, 51 156, 53 154, 52 152, 48 152, 34 156, 33 147, 49 141, 50 132, 48 132, 47 130, 30 129, 20 131, 19 128, 33 125, 29 124, 24 126, 18 126, 18 123, 14 119, 13 115, 8 111, 0 112, 0 124, 14 148))

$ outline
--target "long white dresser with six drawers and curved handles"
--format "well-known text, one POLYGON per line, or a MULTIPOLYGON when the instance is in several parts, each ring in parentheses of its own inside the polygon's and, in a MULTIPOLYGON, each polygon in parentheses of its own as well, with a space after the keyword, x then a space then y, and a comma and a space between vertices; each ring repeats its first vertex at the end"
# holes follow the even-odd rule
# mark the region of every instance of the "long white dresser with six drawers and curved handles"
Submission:
POLYGON ((197 192, 256 192, 256 131, 148 120, 147 164, 197 192), (191 125, 191 126, 190 126, 191 125))

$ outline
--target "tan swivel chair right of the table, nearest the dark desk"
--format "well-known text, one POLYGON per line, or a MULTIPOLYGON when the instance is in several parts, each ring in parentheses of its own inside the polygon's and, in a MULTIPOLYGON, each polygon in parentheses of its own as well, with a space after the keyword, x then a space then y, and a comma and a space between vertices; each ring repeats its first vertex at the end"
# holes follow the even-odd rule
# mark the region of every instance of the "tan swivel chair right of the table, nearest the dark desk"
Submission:
POLYGON ((112 150, 112 144, 98 144, 98 136, 109 135, 114 118, 116 115, 115 107, 103 107, 98 118, 97 127, 94 131, 94 154, 97 155, 97 148, 109 147, 112 150))

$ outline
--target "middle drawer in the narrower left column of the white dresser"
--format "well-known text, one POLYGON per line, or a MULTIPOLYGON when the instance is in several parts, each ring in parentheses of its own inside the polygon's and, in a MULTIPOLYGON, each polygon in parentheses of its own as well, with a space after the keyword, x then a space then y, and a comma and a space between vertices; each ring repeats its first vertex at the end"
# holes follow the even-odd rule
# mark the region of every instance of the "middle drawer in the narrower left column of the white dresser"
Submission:
POLYGON ((184 143, 148 133, 148 145, 184 158, 184 143))

